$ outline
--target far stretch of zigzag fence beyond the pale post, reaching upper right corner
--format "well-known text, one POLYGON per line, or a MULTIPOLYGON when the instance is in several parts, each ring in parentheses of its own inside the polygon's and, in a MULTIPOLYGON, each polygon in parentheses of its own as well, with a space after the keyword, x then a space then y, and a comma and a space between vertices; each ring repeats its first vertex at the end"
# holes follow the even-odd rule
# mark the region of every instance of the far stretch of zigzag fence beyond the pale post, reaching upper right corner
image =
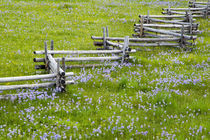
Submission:
MULTIPOLYGON (((134 24, 136 34, 129 38, 129 47, 141 50, 141 47, 175 47, 192 50, 197 39, 199 24, 194 18, 206 18, 209 15, 209 2, 189 2, 189 8, 163 8, 165 15, 139 15, 140 21, 134 24), (193 7, 193 8, 190 8, 193 7), (173 13, 173 11, 181 11, 173 13)), ((113 50, 123 45, 122 37, 109 37, 108 28, 103 28, 103 36, 92 36, 95 46, 103 50, 113 50)))

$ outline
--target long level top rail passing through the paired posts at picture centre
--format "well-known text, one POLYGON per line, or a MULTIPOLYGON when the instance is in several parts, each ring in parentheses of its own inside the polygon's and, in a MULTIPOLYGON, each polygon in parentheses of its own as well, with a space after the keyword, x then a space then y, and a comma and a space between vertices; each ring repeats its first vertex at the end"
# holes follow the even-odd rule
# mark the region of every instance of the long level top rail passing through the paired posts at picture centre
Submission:
MULTIPOLYGON (((92 36, 94 40, 103 40, 103 37, 92 36)), ((180 38, 129 38, 129 42, 162 42, 162 41, 179 41, 180 38)), ((110 41, 123 41, 122 37, 108 37, 110 41)))

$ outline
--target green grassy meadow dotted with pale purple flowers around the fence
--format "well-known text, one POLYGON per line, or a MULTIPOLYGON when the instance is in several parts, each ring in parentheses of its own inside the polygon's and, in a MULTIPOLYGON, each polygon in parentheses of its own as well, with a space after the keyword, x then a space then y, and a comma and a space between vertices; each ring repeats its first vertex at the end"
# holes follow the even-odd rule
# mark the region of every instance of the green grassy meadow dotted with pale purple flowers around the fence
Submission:
MULTIPOLYGON (((36 73, 33 51, 95 49, 91 36, 131 36, 139 14, 160 14, 162 0, 2 0, 0 77, 36 73)), ((30 89, 0 100, 0 139, 210 139, 208 19, 197 19, 192 52, 140 51, 123 66, 72 69, 67 92, 30 89), (25 94, 27 93, 27 94, 25 94), (29 93, 29 94, 28 94, 29 93)), ((39 82, 39 81, 35 81, 39 82)), ((8 83, 10 84, 10 83, 8 83)))

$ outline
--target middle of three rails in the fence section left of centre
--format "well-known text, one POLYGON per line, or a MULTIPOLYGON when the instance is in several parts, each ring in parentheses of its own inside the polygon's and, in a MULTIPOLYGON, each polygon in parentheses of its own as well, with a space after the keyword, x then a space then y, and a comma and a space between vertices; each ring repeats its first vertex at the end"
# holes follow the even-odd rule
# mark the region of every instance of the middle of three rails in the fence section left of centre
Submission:
MULTIPOLYGON (((54 58, 55 61, 58 61, 62 58, 54 58)), ((66 62, 71 61, 105 61, 105 60, 121 60, 121 57, 118 56, 110 56, 110 57, 72 57, 72 58, 65 58, 66 62)), ((44 58, 34 58, 34 62, 44 62, 44 58)), ((57 67, 57 64, 56 64, 57 67)), ((55 70, 56 71, 56 70, 55 70)))

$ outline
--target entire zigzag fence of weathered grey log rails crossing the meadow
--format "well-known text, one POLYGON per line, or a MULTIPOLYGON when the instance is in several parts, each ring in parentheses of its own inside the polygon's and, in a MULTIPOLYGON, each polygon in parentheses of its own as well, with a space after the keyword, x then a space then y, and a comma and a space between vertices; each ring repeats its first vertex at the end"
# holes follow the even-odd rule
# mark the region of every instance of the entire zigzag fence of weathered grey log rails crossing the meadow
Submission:
MULTIPOLYGON (((77 67, 94 67, 105 66, 104 64, 85 64, 85 65, 67 65, 66 62, 83 62, 83 61, 120 61, 120 64, 128 62, 132 57, 129 53, 135 53, 135 47, 155 47, 169 46, 178 47, 188 50, 187 46, 195 45, 190 40, 194 41, 199 34, 198 24, 194 23, 194 18, 208 18, 210 15, 210 1, 197 2, 189 1, 188 8, 163 8, 164 15, 140 15, 140 23, 134 24, 133 34, 135 38, 109 37, 108 28, 103 28, 103 36, 92 36, 95 46, 103 46, 98 50, 78 50, 78 51, 55 51, 53 41, 51 41, 51 49, 47 49, 45 42, 45 50, 35 51, 35 54, 43 54, 44 58, 34 58, 34 62, 44 62, 44 65, 36 65, 36 69, 46 69, 49 74, 30 75, 19 77, 3 77, 0 78, 0 83, 10 83, 18 81, 30 81, 39 79, 52 79, 53 82, 43 82, 38 84, 19 84, 19 85, 0 85, 0 91, 14 90, 23 88, 46 88, 56 87, 60 91, 65 91, 68 84, 74 84, 73 80, 66 80, 67 76, 73 76, 73 72, 65 72, 66 69, 77 67), (158 24, 157 24, 158 23, 158 24), (166 30, 169 29, 169 30, 166 30), (116 41, 116 42, 113 42, 116 41), (123 42, 124 41, 124 42, 123 42), (117 56, 103 57, 72 57, 72 58, 54 58, 57 54, 117 54, 117 56), (62 67, 60 62, 62 61, 62 67)), ((110 64, 113 65, 113 64, 110 64)), ((5 95, 5 97, 8 97, 5 95)), ((1 97, 0 97, 1 98, 1 97)))

